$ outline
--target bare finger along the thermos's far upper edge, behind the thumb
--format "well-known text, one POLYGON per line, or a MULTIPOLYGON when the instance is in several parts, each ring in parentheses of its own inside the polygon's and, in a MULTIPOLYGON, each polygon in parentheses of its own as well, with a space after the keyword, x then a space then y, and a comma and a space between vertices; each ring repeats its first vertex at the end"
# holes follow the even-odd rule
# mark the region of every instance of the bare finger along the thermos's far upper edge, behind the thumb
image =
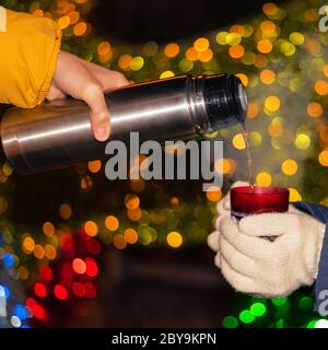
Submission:
POLYGON ((129 85, 129 81, 120 72, 106 69, 85 60, 82 60, 82 62, 89 72, 101 83, 104 91, 129 85))

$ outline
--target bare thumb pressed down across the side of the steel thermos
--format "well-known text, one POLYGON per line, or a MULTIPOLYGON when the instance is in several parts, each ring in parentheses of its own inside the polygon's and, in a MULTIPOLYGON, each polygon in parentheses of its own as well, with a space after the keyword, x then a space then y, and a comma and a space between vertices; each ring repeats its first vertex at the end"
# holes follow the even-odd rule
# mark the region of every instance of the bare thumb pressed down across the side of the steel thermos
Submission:
POLYGON ((96 82, 84 89, 83 101, 91 109, 91 127, 98 141, 106 141, 110 132, 110 116, 102 86, 96 82))

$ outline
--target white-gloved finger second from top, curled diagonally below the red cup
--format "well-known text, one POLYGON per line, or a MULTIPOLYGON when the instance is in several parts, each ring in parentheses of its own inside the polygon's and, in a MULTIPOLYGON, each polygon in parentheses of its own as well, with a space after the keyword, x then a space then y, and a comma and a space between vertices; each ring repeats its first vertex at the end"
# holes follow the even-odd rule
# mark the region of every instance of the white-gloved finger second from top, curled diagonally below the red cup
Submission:
POLYGON ((238 223, 229 217, 222 218, 220 233, 235 249, 248 256, 250 259, 262 259, 273 252, 271 242, 244 234, 243 231, 239 230, 238 223))

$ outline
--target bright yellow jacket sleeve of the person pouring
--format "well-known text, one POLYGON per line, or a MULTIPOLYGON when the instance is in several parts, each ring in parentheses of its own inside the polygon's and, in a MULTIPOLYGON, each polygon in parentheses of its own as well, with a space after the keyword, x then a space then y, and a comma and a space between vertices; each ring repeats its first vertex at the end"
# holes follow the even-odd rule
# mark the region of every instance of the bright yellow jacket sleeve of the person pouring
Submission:
POLYGON ((52 20, 5 10, 5 32, 0 32, 0 103, 33 108, 46 98, 60 42, 61 31, 52 20))

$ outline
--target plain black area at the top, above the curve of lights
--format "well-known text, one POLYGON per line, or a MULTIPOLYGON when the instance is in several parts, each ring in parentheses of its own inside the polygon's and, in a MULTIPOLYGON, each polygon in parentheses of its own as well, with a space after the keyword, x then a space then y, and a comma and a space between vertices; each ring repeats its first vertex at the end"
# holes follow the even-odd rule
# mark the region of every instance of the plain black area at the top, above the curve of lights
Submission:
POLYGON ((261 11, 266 2, 268 1, 98 0, 90 21, 98 34, 112 39, 161 43, 200 35, 236 23, 261 11))

